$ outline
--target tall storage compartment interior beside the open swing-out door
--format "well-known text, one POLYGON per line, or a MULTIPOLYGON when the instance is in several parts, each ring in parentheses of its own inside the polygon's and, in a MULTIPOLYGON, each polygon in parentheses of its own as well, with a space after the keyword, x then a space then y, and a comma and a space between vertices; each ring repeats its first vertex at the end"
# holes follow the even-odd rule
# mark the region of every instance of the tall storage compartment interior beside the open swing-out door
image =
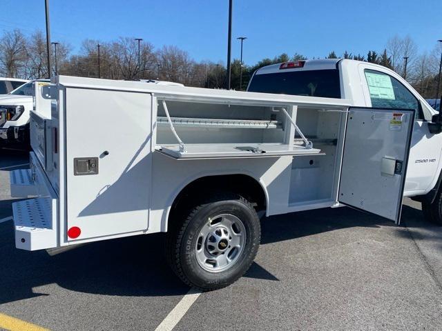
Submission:
MULTIPOLYGON (((318 155, 295 156, 291 164, 289 204, 316 203, 333 199, 337 148, 343 112, 299 108, 296 124, 302 128, 318 155)), ((300 143, 298 135, 295 144, 300 143)))

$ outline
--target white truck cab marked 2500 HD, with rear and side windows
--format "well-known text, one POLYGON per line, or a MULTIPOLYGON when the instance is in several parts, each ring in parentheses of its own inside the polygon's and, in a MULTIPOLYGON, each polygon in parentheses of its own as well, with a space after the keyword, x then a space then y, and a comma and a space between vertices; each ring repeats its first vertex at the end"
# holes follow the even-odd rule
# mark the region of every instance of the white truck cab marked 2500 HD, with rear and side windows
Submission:
POLYGON ((349 59, 278 63, 256 70, 247 90, 348 99, 356 107, 414 109, 404 196, 428 199, 427 194, 439 185, 442 134, 430 132, 429 127, 437 112, 388 68, 349 59))

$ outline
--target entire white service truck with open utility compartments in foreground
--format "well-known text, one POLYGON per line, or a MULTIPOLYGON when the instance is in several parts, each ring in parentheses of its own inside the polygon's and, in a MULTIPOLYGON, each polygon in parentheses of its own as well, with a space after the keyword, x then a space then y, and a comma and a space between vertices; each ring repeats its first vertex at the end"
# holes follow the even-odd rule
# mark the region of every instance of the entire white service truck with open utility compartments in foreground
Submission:
POLYGON ((441 221, 441 121, 397 74, 295 61, 261 68, 249 91, 37 87, 30 170, 10 173, 12 197, 32 197, 12 205, 17 248, 167 232, 177 276, 212 290, 251 265, 259 214, 347 205, 399 223, 405 194, 441 221))

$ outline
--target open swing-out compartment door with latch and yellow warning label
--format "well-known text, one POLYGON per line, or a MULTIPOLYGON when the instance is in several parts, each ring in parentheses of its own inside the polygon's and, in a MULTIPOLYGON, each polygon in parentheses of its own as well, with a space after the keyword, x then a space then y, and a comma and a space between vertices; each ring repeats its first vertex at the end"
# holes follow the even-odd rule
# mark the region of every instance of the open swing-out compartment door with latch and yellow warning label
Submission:
POLYGON ((338 201, 401 219, 414 110, 349 108, 338 201))

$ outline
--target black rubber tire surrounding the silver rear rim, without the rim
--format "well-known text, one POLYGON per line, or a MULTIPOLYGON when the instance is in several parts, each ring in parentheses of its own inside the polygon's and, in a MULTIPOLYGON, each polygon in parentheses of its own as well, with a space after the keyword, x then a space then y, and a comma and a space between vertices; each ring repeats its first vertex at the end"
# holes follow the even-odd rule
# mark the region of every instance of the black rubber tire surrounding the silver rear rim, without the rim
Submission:
POLYGON ((198 203, 189 212, 175 212, 166 239, 167 259, 172 270, 186 285, 200 290, 216 290, 230 285, 247 272, 258 252, 260 237, 260 221, 251 203, 238 194, 220 193, 198 203), (242 221, 246 230, 245 245, 231 268, 210 272, 198 263, 195 247, 208 219, 224 213, 242 221))

